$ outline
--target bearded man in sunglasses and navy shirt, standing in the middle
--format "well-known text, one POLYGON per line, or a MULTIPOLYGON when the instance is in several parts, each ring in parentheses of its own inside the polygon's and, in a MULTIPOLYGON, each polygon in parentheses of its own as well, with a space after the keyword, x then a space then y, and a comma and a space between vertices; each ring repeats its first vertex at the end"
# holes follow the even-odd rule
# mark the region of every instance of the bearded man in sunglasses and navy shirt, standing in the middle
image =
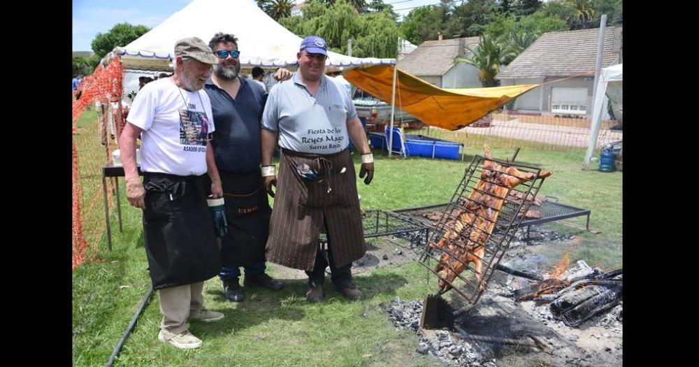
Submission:
MULTIPOLYGON (((238 38, 219 32, 209 41, 218 59, 204 90, 211 100, 216 122, 212 147, 224 192, 228 233, 221 240, 223 267, 219 278, 226 299, 240 302, 240 267, 245 268, 245 287, 279 290, 284 286, 265 273, 264 248, 269 229, 267 194, 260 180, 260 119, 266 91, 240 78, 238 38)), ((275 78, 288 79, 291 72, 279 69, 275 78)))

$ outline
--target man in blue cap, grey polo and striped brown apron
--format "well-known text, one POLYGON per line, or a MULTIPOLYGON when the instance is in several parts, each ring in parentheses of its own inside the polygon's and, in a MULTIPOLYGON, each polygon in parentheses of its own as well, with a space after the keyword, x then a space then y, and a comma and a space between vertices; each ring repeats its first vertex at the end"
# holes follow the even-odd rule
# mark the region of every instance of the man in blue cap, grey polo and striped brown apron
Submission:
POLYGON ((361 152, 359 177, 371 182, 373 157, 347 89, 324 74, 323 38, 308 36, 296 54, 291 82, 275 85, 262 115, 262 176, 275 197, 266 254, 269 261, 306 271, 309 302, 323 301, 325 268, 340 294, 363 298, 352 280, 352 261, 366 252, 349 140, 361 152), (277 134, 279 179, 271 164, 277 134), (327 252, 319 233, 327 233, 327 252))

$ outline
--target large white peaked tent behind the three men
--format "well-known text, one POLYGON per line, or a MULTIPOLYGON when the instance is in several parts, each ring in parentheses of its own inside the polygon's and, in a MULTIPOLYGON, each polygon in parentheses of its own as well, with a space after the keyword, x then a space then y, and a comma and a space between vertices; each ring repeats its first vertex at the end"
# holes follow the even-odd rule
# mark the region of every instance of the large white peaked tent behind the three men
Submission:
MULTIPOLYGON (((252 0, 194 0, 135 41, 117 47, 124 69, 169 70, 175 42, 196 36, 208 43, 217 32, 238 38, 240 64, 279 67, 296 65, 302 38, 275 22, 252 0)), ((395 59, 359 58, 328 52, 326 65, 396 64, 395 59)))

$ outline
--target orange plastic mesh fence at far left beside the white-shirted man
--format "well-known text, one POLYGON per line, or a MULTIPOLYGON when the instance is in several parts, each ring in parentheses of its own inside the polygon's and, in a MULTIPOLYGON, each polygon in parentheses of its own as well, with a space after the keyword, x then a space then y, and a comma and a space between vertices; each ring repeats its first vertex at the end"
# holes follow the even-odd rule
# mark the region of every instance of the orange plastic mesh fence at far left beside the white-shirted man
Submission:
MULTIPOLYGON (((106 226, 101 172, 123 128, 122 114, 112 105, 122 99, 122 78, 118 58, 107 67, 99 65, 80 85, 80 99, 73 101, 73 270, 99 261, 106 226), (81 120, 86 110, 96 118, 81 120)), ((112 180, 106 183, 107 205, 112 206, 115 187, 112 180)))

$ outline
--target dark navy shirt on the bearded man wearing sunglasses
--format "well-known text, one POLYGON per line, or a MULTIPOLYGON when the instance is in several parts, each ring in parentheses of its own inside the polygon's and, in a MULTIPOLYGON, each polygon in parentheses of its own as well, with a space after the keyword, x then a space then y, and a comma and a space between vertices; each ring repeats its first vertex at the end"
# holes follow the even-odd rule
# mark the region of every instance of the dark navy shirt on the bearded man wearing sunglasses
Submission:
POLYGON ((216 124, 211 145, 219 171, 250 173, 260 169, 260 120, 266 92, 257 83, 238 79, 235 101, 212 80, 206 81, 204 90, 216 124))

